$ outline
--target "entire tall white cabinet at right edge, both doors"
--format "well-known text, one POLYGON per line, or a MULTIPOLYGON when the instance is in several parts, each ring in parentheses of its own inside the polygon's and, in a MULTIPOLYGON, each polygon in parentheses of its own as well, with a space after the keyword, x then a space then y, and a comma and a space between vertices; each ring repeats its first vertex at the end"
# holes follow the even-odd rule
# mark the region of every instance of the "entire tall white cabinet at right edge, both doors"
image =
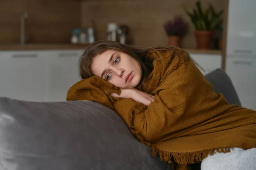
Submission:
POLYGON ((228 4, 226 71, 242 106, 256 110, 256 1, 228 4))

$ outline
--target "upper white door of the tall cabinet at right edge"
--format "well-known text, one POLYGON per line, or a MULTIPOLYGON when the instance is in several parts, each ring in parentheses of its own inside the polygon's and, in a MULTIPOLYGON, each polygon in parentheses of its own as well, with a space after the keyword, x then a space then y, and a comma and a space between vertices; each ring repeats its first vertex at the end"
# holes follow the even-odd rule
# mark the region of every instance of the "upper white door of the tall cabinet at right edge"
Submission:
POLYGON ((227 54, 256 55, 256 0, 230 0, 227 54))

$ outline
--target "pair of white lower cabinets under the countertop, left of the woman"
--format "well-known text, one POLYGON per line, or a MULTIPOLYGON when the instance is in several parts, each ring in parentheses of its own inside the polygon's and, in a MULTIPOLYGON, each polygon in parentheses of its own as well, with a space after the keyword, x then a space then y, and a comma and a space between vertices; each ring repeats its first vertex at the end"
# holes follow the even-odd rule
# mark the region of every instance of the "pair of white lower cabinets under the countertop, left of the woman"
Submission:
POLYGON ((0 96, 34 102, 65 101, 80 80, 82 50, 0 51, 0 96))

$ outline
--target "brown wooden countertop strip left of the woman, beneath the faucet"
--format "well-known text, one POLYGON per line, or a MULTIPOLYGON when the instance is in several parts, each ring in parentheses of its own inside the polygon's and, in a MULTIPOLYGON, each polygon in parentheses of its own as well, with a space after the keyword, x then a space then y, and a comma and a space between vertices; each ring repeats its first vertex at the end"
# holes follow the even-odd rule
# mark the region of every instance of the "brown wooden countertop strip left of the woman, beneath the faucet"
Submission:
POLYGON ((0 45, 0 50, 72 50, 81 49, 84 50, 89 44, 6 44, 0 45))

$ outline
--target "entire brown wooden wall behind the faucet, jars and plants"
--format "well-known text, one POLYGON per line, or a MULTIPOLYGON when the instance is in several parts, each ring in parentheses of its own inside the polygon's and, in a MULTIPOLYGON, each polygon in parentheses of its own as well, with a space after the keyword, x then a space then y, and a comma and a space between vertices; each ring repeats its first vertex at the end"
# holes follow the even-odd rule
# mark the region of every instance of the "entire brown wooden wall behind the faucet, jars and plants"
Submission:
MULTIPOLYGON (((224 8, 222 0, 201 0, 203 7, 210 2, 216 10, 224 8)), ((0 0, 0 44, 19 43, 20 15, 28 11, 27 29, 31 43, 69 43, 71 30, 95 23, 97 40, 104 40, 107 24, 127 24, 134 45, 166 45, 163 23, 175 15, 189 22, 189 34, 183 48, 195 48, 194 27, 181 3, 188 8, 195 0, 0 0)))

